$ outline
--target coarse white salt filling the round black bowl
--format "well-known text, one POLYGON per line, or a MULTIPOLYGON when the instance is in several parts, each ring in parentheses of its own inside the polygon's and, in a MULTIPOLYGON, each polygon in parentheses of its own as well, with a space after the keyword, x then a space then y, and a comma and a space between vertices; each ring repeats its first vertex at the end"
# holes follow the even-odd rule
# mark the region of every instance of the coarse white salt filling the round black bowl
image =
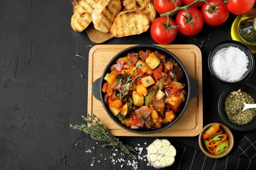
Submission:
POLYGON ((214 73, 226 82, 234 82, 242 78, 247 71, 248 63, 246 54, 234 46, 221 48, 212 59, 214 73))

